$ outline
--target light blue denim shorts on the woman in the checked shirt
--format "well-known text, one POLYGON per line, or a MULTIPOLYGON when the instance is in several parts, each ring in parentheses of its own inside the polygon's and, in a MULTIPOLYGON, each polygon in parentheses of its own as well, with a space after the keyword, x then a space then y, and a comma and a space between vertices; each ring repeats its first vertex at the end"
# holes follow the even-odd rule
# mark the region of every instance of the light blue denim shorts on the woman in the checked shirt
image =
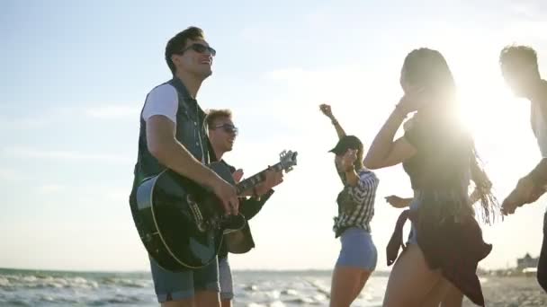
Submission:
POLYGON ((372 272, 378 261, 378 251, 372 241, 371 232, 350 227, 340 236, 342 249, 336 267, 362 268, 372 272))

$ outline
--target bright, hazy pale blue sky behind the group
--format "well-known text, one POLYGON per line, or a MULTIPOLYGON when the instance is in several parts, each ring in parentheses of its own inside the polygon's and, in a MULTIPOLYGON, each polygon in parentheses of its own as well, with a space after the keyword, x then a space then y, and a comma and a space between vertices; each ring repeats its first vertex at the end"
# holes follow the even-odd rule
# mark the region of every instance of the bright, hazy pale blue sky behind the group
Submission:
MULTIPOLYGON (((519 1, 15 1, 0 10, 0 268, 148 270, 128 197, 146 94, 170 79, 166 41, 190 25, 217 49, 198 101, 229 108, 240 134, 226 160, 247 176, 297 151, 298 165, 250 221, 256 249, 234 269, 329 269, 342 188, 328 102, 368 148, 399 101, 413 48, 441 51, 462 118, 502 200, 539 162, 529 102, 507 90, 498 54, 530 45, 547 74, 547 3, 519 1)), ((372 238, 378 269, 410 197, 402 167, 377 171, 372 238)), ((547 197, 491 226, 481 268, 537 256, 547 197)))

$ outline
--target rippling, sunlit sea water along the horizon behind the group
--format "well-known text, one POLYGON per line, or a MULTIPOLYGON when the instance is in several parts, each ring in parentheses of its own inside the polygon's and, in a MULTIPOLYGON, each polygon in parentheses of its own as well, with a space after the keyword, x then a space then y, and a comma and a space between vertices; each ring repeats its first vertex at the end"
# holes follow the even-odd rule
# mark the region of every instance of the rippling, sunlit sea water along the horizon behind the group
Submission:
MULTIPOLYGON (((331 271, 235 271, 234 306, 327 306, 331 271)), ((375 274, 353 306, 381 306, 375 274)), ((150 273, 0 269, 0 306, 158 306, 150 273)))

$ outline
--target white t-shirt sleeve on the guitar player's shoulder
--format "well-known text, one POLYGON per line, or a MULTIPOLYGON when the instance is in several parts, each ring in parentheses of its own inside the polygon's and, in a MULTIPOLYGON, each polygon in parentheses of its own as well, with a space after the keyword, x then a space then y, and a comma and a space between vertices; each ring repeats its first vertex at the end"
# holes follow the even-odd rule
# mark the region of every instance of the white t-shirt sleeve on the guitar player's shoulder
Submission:
POLYGON ((148 121, 154 115, 163 115, 171 119, 176 125, 176 111, 178 110, 178 94, 171 84, 162 84, 148 93, 144 102, 142 119, 148 121))

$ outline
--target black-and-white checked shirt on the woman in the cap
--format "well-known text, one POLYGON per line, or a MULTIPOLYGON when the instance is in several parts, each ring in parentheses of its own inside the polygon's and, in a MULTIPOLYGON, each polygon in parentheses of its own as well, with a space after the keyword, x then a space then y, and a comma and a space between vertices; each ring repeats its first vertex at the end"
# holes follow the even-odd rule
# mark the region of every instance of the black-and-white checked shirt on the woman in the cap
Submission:
MULTIPOLYGON (((333 230, 338 237, 348 227, 359 227, 371 232, 370 222, 374 215, 374 198, 378 188, 378 177, 372 171, 358 171, 359 181, 354 187, 345 184, 336 199, 338 216, 333 230)), ((343 180, 344 181, 344 180, 343 180)))

